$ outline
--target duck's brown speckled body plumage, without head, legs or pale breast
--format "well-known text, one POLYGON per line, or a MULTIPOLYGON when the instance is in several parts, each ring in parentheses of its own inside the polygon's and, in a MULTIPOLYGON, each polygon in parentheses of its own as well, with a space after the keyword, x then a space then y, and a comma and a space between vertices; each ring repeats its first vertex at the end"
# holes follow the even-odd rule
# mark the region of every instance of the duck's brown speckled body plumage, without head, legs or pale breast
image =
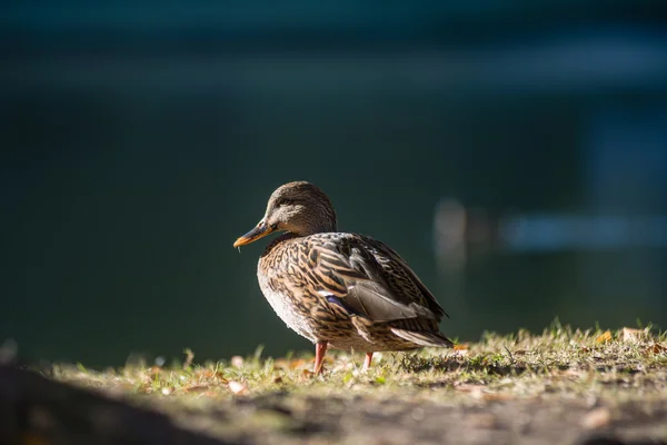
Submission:
POLYGON ((311 317, 300 334, 313 342, 361 350, 451 345, 438 330, 445 312, 432 294, 398 254, 369 237, 283 235, 267 247, 258 273, 292 310, 311 317))

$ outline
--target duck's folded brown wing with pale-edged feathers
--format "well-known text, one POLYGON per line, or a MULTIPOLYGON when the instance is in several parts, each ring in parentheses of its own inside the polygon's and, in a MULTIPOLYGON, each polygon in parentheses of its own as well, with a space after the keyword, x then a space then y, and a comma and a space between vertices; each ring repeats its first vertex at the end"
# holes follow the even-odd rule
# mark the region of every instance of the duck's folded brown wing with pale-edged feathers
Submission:
POLYGON ((307 268, 317 294, 369 320, 392 325, 424 320, 422 327, 431 330, 445 315, 406 261, 375 239, 356 234, 311 236, 307 268))

